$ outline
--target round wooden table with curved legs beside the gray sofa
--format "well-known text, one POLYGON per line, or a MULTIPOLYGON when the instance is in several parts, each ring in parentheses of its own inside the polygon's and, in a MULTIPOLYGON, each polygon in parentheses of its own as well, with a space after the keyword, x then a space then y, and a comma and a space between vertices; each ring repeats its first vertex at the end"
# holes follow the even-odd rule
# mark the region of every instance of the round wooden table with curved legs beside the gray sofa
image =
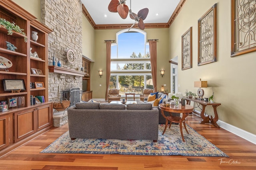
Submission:
POLYGON ((183 137, 183 132, 182 132, 182 123, 188 133, 188 130, 186 128, 185 118, 188 116, 189 113, 191 113, 193 111, 194 107, 190 106, 188 104, 186 104, 185 106, 182 106, 181 104, 179 104, 178 108, 175 108, 174 105, 170 105, 169 107, 163 107, 162 104, 159 104, 159 109, 161 110, 161 114, 166 119, 165 128, 164 128, 164 132, 162 133, 162 135, 164 135, 164 133, 166 131, 166 128, 168 126, 168 121, 170 121, 169 128, 171 127, 172 122, 179 123, 180 124, 180 134, 181 134, 183 142, 185 142, 184 137, 183 137), (169 112, 170 116, 166 116, 164 114, 164 111, 169 112), (182 113, 182 117, 172 116, 171 113, 182 113))

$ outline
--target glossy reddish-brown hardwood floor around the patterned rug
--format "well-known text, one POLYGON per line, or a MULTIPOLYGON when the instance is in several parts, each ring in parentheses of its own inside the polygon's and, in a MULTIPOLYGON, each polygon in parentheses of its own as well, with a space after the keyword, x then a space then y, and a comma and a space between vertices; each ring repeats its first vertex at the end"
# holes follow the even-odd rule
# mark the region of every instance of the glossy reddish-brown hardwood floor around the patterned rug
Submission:
POLYGON ((118 154, 42 154, 68 123, 55 127, 0 158, 0 170, 249 170, 256 169, 256 145, 211 124, 200 125, 196 115, 186 123, 230 157, 133 156, 118 154))

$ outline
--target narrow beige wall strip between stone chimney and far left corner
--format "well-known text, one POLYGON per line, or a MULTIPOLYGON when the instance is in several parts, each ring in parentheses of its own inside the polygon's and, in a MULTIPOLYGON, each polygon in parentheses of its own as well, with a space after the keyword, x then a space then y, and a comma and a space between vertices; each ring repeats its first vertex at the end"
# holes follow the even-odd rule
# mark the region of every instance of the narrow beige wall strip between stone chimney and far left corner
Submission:
POLYGON ((87 18, 83 15, 82 17, 82 54, 94 61, 94 39, 95 31, 92 25, 89 23, 87 18))

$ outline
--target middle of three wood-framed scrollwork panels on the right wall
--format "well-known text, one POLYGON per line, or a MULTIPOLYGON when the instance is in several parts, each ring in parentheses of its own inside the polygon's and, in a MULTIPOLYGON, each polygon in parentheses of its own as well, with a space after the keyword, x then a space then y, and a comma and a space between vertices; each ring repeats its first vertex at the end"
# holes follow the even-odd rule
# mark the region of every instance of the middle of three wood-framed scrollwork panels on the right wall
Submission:
POLYGON ((217 61, 217 4, 198 20, 198 66, 217 61))

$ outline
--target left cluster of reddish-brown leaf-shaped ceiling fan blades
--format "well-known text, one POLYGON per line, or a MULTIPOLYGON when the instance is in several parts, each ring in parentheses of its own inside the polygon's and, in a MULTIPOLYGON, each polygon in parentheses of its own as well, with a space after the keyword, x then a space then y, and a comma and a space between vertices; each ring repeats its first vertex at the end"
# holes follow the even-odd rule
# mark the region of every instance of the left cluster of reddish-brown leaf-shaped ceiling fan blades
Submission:
POLYGON ((122 19, 126 19, 128 16, 129 8, 125 4, 126 0, 111 0, 108 5, 108 10, 110 12, 118 12, 122 19))

